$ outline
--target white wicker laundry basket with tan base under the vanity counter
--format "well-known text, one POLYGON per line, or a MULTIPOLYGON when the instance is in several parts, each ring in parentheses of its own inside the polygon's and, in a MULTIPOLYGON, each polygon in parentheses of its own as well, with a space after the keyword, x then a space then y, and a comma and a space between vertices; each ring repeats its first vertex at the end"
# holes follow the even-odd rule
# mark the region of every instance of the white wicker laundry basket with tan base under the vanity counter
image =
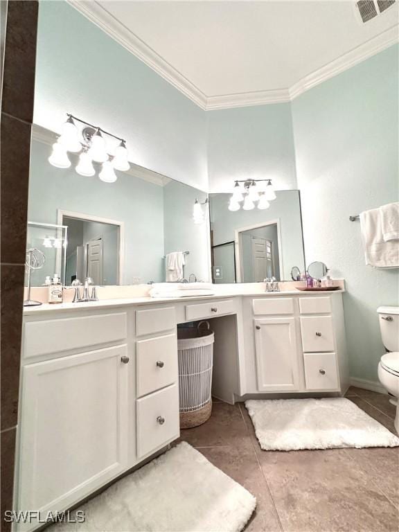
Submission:
POLYGON ((199 322, 197 328, 177 329, 182 429, 202 425, 211 416, 214 336, 208 321, 199 322))

